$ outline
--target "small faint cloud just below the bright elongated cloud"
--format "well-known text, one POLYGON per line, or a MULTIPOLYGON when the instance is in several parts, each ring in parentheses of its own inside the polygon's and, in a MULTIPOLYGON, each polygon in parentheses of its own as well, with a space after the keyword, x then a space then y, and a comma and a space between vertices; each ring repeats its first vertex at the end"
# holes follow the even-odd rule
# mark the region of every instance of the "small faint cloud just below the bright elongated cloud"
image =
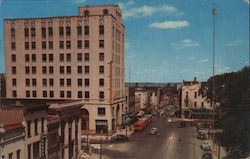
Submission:
MULTIPOLYGON (((193 41, 192 39, 183 39, 181 42, 178 43, 171 43, 172 46, 175 46, 177 49, 183 49, 183 48, 192 48, 192 47, 198 47, 200 44, 196 41, 193 41)), ((190 60, 194 60, 194 57, 190 57, 190 60)))

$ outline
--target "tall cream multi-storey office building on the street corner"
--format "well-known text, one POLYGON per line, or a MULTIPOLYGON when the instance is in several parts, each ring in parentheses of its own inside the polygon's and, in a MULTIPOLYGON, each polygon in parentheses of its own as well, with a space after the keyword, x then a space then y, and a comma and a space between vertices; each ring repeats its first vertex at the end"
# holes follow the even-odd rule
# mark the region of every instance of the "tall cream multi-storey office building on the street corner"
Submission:
POLYGON ((81 99, 82 129, 114 130, 124 107, 124 31, 118 5, 5 19, 7 98, 81 99))

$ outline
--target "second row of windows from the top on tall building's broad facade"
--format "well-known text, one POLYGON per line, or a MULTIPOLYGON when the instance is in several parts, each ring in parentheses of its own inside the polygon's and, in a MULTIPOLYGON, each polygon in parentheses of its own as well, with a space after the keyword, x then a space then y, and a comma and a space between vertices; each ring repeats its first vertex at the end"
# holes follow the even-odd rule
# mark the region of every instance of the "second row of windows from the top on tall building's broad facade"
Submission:
MULTIPOLYGON (((59 48, 64 49, 64 41, 59 41, 59 48)), ((47 49, 47 42, 42 41, 42 50, 47 49)), ((24 48, 25 50, 30 49, 30 43, 29 42, 24 42, 24 48)), ((48 41, 48 49, 53 50, 53 41, 48 41)), ((82 49, 83 48, 83 41, 82 40, 77 40, 77 48, 82 49)), ((89 40, 84 40, 84 48, 89 49, 90 48, 90 43, 89 40)), ((99 40, 99 48, 104 48, 104 40, 99 40)), ((11 42, 11 49, 16 50, 16 43, 11 42)), ((36 42, 31 42, 31 49, 36 50, 36 42)), ((71 41, 66 41, 66 49, 71 49, 71 41)))

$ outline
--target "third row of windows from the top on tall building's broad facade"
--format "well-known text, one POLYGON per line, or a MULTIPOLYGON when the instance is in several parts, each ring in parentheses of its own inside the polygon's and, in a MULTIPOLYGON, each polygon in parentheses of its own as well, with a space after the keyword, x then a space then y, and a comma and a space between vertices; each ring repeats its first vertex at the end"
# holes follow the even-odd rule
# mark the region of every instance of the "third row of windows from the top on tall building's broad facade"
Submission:
MULTIPOLYGON (((90 60, 90 54, 89 53, 77 53, 77 61, 82 62, 83 61, 83 56, 84 56, 84 61, 89 61, 90 60)), ((53 62, 54 61, 54 54, 42 54, 42 62, 53 62), (48 57, 48 60, 47 60, 48 57)), ((60 62, 71 62, 71 53, 66 53, 66 54, 59 54, 59 61, 60 62)), ((16 54, 12 54, 11 56, 11 61, 16 62, 16 54)), ((36 54, 25 54, 25 62, 36 62, 36 54), (31 60, 30 60, 31 56, 31 60)), ((99 53, 99 61, 104 61, 104 53, 99 53)))

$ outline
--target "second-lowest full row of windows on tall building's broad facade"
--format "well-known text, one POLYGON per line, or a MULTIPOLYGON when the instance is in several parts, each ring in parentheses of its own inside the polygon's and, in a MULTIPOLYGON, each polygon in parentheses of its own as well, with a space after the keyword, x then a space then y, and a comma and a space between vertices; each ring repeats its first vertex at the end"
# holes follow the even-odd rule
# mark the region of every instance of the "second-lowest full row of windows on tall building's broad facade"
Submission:
MULTIPOLYGON (((85 87, 90 86, 90 79, 89 78, 85 78, 84 80, 82 78, 78 78, 77 79, 77 86, 82 87, 83 86, 83 81, 84 81, 84 86, 85 87)), ((99 79, 99 87, 104 87, 104 83, 105 83, 104 78, 100 78, 99 79)), ((67 79, 60 78, 59 85, 60 85, 60 87, 64 87, 64 86, 71 87, 72 80, 70 78, 67 78, 67 79)), ((16 78, 12 79, 12 86, 13 87, 17 86, 16 78)), ((37 86, 37 80, 35 78, 32 78, 32 79, 26 78, 25 79, 25 86, 26 87, 30 87, 30 86, 36 87, 37 86)), ((53 78, 50 78, 50 79, 43 78, 42 79, 42 86, 43 87, 47 87, 47 86, 53 87, 54 86, 54 79, 53 78)))

